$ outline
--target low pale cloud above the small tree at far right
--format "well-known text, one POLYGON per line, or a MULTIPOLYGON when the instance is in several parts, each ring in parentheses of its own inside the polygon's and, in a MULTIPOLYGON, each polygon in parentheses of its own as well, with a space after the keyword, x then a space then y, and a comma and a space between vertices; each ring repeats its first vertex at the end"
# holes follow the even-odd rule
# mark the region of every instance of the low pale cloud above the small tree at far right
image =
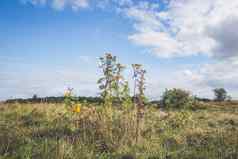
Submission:
POLYGON ((195 92, 198 89, 204 89, 201 95, 212 97, 214 88, 225 88, 238 99, 238 63, 236 60, 219 61, 213 64, 205 64, 199 69, 183 70, 180 72, 184 82, 190 83, 195 92))

